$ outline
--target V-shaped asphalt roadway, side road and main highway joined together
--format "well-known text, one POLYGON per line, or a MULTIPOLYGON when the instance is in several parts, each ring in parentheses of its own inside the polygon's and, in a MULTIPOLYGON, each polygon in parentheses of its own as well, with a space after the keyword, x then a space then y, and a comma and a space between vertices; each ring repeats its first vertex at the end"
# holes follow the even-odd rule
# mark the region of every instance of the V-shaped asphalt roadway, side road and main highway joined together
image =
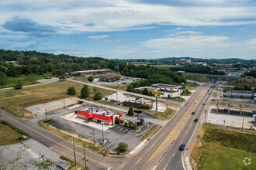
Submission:
MULTIPOLYGON (((182 151, 178 151, 178 148, 183 143, 187 145, 191 138, 197 124, 193 120, 195 117, 201 116, 204 109, 202 103, 209 98, 207 90, 210 86, 210 83, 206 83, 192 93, 192 97, 136 155, 128 155, 125 158, 109 158, 87 150, 88 167, 90 169, 107 169, 109 167, 112 169, 183 169, 182 151), (195 104, 195 100, 198 101, 198 104, 195 104), (194 110, 196 114, 192 115, 194 110)), ((52 151, 74 160, 71 143, 50 134, 32 121, 22 120, 4 110, 2 110, 2 118, 25 131, 52 151)), ((76 147, 76 153, 78 162, 83 164, 83 149, 76 147)))

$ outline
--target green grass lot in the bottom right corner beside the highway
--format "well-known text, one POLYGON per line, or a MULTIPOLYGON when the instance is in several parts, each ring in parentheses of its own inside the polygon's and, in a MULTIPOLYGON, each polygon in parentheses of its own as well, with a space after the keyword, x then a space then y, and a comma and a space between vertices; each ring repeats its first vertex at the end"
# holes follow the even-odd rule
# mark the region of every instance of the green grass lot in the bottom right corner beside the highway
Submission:
POLYGON ((256 169, 256 135, 222 129, 209 124, 200 131, 202 146, 192 151, 199 169, 256 169), (251 158, 251 165, 244 165, 251 158))

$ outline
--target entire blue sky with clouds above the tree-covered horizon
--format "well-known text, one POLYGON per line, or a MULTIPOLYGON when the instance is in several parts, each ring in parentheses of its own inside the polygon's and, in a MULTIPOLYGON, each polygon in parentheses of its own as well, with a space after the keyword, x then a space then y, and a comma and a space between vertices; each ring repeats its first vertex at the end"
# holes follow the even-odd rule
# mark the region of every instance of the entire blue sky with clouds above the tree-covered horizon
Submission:
POLYGON ((256 0, 0 0, 0 49, 256 59, 256 0))

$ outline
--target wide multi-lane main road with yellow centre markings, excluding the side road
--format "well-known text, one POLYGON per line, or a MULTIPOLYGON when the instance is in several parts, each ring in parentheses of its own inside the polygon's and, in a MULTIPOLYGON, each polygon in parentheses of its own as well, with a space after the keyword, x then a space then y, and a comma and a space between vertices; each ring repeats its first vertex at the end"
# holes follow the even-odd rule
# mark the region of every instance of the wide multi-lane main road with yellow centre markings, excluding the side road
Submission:
POLYGON ((194 118, 199 118, 203 112, 202 103, 209 98, 209 87, 209 84, 199 87, 171 121, 137 155, 127 159, 121 169, 183 169, 182 151, 178 148, 191 138, 197 124, 194 118), (196 114, 192 115, 192 111, 196 114))

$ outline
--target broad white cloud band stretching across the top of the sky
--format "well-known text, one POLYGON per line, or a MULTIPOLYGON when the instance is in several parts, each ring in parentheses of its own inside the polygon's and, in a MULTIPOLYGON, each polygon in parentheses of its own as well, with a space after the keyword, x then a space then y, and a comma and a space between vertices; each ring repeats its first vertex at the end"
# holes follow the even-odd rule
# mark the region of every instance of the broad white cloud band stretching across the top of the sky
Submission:
MULTIPOLYGON (((188 0, 184 0, 187 2, 188 0)), ((189 1, 191 2, 191 1, 189 1)), ((197 0, 196 2, 215 2, 197 0)), ((108 32, 130 29, 151 29, 150 25, 170 26, 233 26, 255 23, 255 5, 233 5, 217 0, 214 5, 157 5, 128 0, 112 1, 2 1, 2 8, 19 5, 20 10, 1 10, 0 25, 20 16, 61 33, 108 32), (225 5, 222 5, 225 4, 225 5), (227 5, 226 5, 227 4, 227 5)), ((198 4, 199 4, 198 3, 198 4)), ((154 27, 153 27, 154 28, 154 27)))

